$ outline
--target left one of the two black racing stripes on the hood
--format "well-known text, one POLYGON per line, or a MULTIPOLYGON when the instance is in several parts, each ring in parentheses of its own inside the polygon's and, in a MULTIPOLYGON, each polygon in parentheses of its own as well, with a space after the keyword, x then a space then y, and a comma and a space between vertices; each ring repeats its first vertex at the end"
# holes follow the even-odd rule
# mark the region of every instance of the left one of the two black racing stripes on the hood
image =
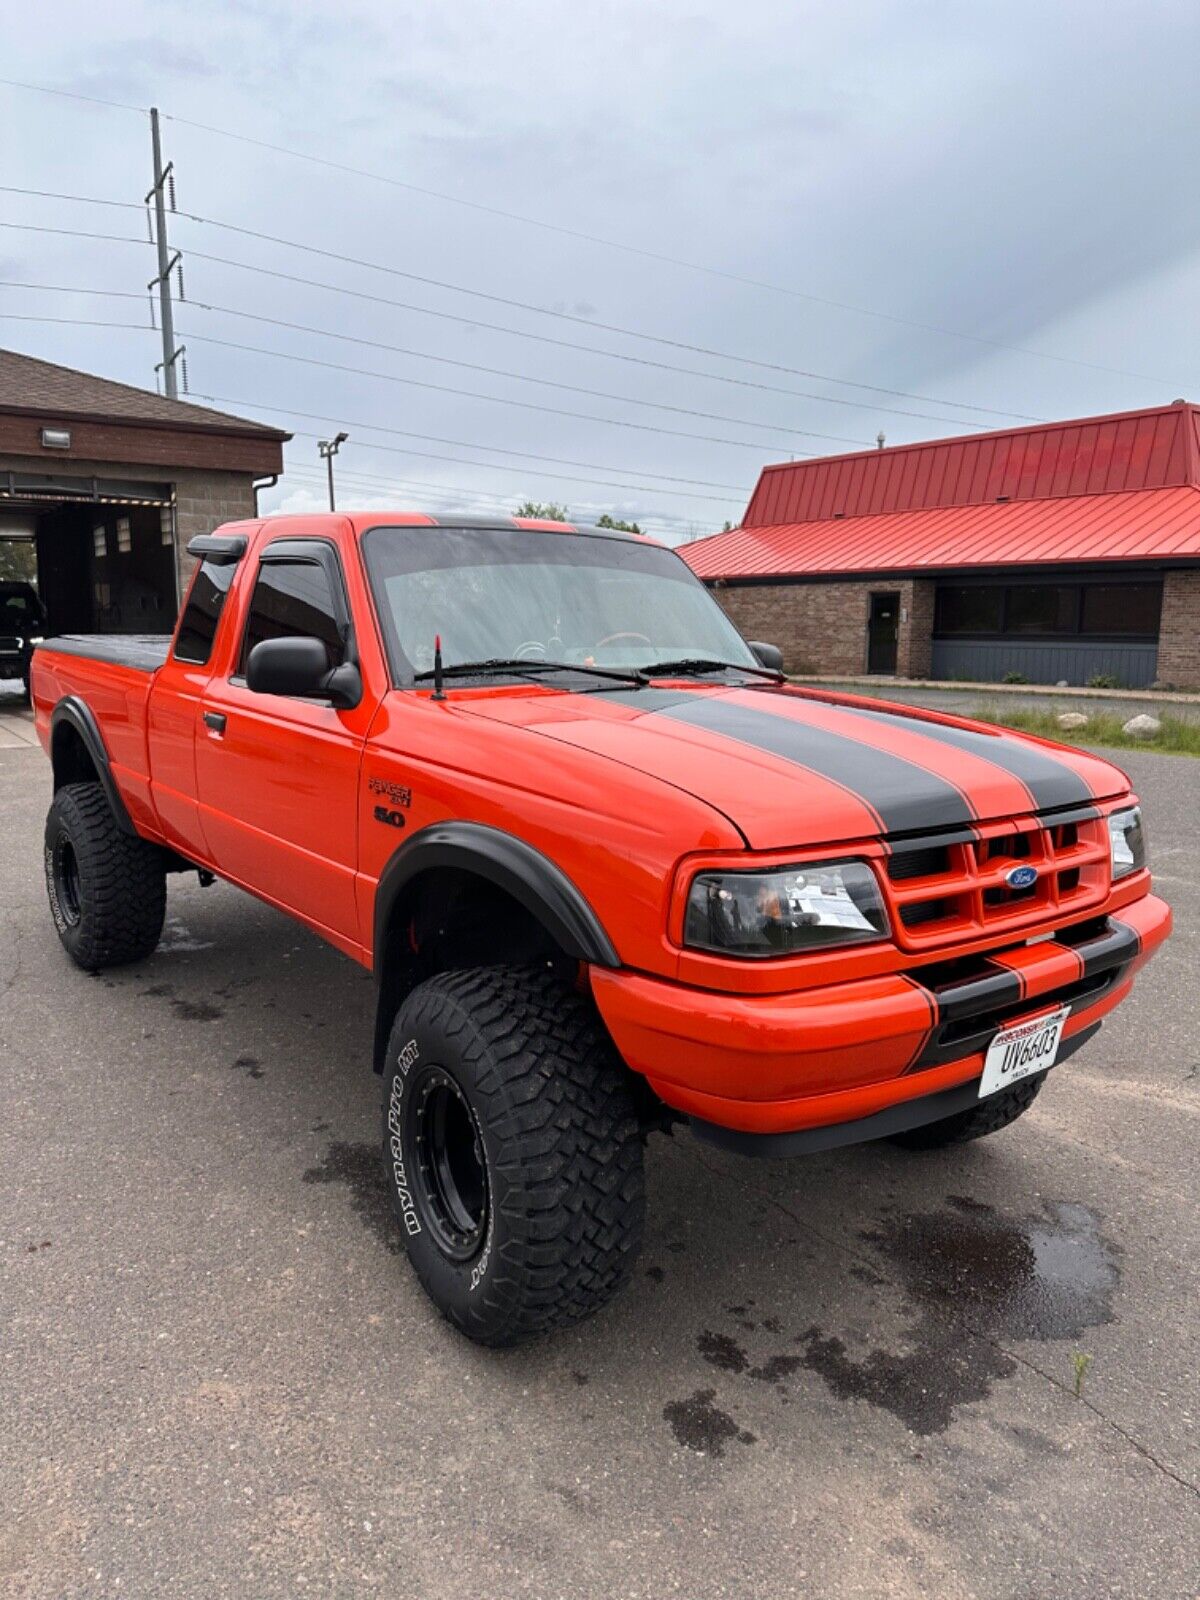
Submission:
POLYGON ((886 834, 955 827, 971 822, 976 814, 962 789, 915 762, 814 728, 802 718, 757 710, 728 694, 642 690, 629 704, 754 746, 818 778, 830 778, 864 800, 886 834))

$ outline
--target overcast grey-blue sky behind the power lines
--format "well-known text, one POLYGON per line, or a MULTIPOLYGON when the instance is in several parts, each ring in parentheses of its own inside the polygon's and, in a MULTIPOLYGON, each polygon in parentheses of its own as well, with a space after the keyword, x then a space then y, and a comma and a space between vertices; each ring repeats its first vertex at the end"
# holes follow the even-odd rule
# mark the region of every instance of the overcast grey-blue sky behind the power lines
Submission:
MULTIPOLYGON (((317 435, 344 427, 346 506, 533 496, 675 539, 792 453, 1200 398, 1198 61, 1192 0, 59 0, 5 10, 0 72, 170 115, 179 210, 210 219, 171 222, 190 390, 296 432, 267 506, 323 504, 317 435)), ((21 189, 150 184, 136 110, 0 85, 0 149, 21 189)), ((136 210, 10 192, 0 221, 146 237, 136 210)), ((141 296, 6 286, 0 342, 152 386, 152 274, 146 245, 0 227, 0 283, 141 296)))

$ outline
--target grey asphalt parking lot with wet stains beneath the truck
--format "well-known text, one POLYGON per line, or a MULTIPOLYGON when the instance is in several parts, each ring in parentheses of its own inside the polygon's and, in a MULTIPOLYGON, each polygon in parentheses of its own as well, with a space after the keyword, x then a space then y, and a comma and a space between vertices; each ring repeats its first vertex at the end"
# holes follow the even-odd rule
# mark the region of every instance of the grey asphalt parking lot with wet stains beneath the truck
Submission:
POLYGON ((490 1354, 390 1222, 366 974, 194 880, 75 971, 8 726, 2 1592, 1197 1594, 1200 762, 1120 757, 1178 931, 1022 1122, 654 1139, 632 1288, 490 1354))

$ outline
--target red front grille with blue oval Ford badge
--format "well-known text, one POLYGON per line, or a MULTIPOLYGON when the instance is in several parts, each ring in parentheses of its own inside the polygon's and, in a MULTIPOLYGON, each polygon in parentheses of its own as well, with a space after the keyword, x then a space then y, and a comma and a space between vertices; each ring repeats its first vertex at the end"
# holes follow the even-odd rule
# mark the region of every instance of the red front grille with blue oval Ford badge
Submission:
POLYGON ((949 842, 898 842, 888 856, 893 926, 910 950, 1082 912, 1107 888, 1107 824, 1090 808, 1059 819, 978 822, 949 842), (1013 867, 1034 867, 1037 878, 1014 888, 1006 882, 1013 867))

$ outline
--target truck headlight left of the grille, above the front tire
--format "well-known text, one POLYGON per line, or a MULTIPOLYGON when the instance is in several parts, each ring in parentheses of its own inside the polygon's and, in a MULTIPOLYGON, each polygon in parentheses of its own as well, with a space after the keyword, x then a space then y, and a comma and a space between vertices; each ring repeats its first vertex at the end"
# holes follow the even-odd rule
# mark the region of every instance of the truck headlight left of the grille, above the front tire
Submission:
POLYGON ((699 872, 683 918, 685 944, 723 955, 795 955, 886 933, 878 882, 862 861, 699 872))

